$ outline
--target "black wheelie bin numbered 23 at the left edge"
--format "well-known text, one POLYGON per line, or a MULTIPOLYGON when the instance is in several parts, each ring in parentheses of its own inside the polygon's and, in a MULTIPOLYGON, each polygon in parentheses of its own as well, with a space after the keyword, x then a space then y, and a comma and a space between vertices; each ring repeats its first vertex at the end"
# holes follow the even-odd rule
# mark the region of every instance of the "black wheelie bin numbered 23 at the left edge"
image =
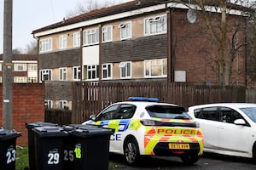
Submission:
POLYGON ((0 169, 15 170, 16 139, 21 134, 0 127, 0 169))

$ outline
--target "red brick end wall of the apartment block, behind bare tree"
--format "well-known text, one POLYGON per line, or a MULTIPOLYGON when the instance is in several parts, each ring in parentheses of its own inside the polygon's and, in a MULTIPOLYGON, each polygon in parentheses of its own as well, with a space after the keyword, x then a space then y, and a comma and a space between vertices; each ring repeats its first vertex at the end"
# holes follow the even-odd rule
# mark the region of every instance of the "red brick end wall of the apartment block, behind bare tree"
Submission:
MULTIPOLYGON (((214 20, 212 15, 212 20, 214 20)), ((227 37, 230 39, 235 32, 236 17, 229 16, 227 37), (235 26, 233 26, 235 25, 235 26)), ((194 24, 189 23, 186 11, 175 9, 173 12, 173 47, 174 47, 174 70, 186 71, 187 82, 212 82, 218 84, 218 67, 212 61, 218 54, 216 43, 212 42, 205 20, 200 15, 194 24), (215 67, 213 71, 212 67, 215 67)), ((218 20, 213 21, 213 26, 218 26, 218 20)), ((242 37, 242 32, 239 32, 242 37)), ((227 47, 229 48, 229 47, 227 47)), ((229 51, 229 50, 228 50, 229 51)), ((232 82, 240 85, 245 84, 245 54, 241 50, 233 62, 232 82), (238 60, 237 60, 238 59, 238 60)))

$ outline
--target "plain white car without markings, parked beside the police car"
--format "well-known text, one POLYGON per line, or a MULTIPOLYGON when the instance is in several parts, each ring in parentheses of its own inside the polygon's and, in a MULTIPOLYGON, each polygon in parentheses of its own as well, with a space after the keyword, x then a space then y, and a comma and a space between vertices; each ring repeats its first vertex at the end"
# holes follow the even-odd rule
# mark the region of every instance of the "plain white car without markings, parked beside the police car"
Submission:
POLYGON ((189 116, 200 124, 205 152, 256 160, 256 104, 195 105, 189 116))

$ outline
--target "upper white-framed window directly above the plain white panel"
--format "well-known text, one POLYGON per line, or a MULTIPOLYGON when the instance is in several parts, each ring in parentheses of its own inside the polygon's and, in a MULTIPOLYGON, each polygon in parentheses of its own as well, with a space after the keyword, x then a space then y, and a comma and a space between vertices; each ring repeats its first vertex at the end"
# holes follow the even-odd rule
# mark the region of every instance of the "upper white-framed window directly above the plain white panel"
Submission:
POLYGON ((99 43, 99 28, 84 30, 84 45, 93 45, 99 43))

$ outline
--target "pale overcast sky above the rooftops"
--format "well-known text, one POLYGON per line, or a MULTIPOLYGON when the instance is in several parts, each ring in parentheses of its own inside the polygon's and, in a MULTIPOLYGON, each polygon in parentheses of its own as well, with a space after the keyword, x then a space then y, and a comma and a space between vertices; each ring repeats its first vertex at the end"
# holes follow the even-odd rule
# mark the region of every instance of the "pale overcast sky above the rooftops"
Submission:
MULTIPOLYGON (((4 0, 0 2, 0 54, 3 54, 4 0)), ((13 0, 13 48, 25 49, 34 40, 32 31, 61 21, 79 3, 84 0, 13 0)))

